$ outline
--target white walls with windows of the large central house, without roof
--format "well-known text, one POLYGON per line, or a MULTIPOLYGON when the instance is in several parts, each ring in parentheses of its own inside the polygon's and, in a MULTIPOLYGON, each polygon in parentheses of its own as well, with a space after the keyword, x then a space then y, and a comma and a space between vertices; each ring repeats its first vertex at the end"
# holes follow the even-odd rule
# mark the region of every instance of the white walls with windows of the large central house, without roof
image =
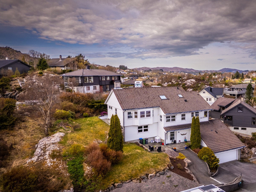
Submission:
POLYGON ((120 124, 124 128, 124 140, 134 141, 140 138, 154 138, 159 136, 164 144, 172 140, 184 142, 190 140, 190 128, 180 131, 166 132, 164 127, 191 124, 193 116, 199 116, 200 122, 209 120, 209 111, 195 111, 191 113, 164 114, 161 108, 143 108, 123 110, 111 92, 108 101, 108 118, 118 115, 120 124))

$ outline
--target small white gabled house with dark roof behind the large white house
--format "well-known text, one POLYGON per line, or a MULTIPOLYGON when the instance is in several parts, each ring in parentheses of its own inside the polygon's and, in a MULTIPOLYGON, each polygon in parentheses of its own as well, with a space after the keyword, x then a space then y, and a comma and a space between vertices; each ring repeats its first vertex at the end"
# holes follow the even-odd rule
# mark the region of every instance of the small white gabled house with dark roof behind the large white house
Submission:
POLYGON ((199 94, 209 105, 212 105, 219 97, 223 97, 223 88, 213 88, 208 86, 199 92, 199 94))

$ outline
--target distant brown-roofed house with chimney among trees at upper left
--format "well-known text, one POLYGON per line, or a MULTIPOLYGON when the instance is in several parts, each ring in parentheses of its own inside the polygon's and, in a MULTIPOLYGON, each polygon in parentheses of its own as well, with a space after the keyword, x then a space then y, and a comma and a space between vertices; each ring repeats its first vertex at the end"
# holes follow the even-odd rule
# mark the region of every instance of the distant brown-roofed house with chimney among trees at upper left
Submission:
POLYGON ((76 58, 54 58, 47 61, 49 67, 60 67, 62 70, 77 70, 76 58))

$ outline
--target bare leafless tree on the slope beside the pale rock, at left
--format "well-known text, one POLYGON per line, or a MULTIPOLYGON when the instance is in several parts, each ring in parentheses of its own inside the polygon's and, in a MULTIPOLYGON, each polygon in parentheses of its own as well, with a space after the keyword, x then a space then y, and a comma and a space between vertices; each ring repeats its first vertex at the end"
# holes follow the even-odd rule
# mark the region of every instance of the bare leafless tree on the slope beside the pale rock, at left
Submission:
POLYGON ((53 107, 58 102, 58 96, 60 95, 60 83, 59 76, 46 76, 30 75, 26 77, 26 93, 24 99, 31 100, 35 103, 35 107, 38 108, 44 119, 45 136, 49 133, 49 127, 51 127, 51 117, 54 112, 53 107))

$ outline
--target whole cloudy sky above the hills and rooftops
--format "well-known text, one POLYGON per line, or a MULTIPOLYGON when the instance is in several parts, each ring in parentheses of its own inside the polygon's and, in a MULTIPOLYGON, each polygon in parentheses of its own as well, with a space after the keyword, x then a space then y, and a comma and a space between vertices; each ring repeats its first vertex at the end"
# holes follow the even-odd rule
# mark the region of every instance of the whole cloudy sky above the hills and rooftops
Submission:
POLYGON ((0 0, 0 46, 91 63, 256 70, 256 1, 0 0))

